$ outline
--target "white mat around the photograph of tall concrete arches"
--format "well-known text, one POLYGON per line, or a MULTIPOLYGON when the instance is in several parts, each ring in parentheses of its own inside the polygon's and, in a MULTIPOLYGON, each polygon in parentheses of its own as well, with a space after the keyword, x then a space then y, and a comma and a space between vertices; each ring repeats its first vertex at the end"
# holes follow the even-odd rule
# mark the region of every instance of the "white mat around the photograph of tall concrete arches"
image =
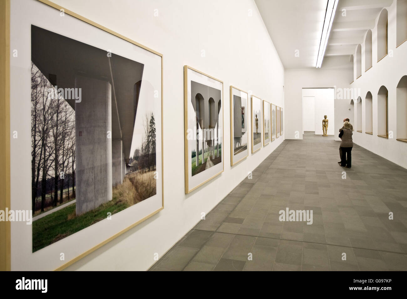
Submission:
MULTIPOLYGON (((196 116, 195 116, 195 110, 194 107, 191 103, 191 81, 195 81, 197 83, 201 83, 206 86, 210 86, 216 89, 219 89, 221 91, 221 112, 219 112, 219 120, 218 124, 221 124, 222 127, 219 126, 219 143, 222 144, 221 148, 221 156, 222 156, 222 162, 218 163, 202 172, 197 173, 196 175, 192 175, 192 157, 190 155, 192 149, 195 149, 195 144, 196 140, 186 140, 188 142, 188 190, 191 190, 195 188, 196 186, 199 186, 201 183, 205 182, 206 180, 214 177, 215 175, 219 174, 219 172, 223 171, 223 152, 225 148, 225 144, 223 142, 223 83, 219 82, 217 80, 214 80, 208 76, 205 76, 204 74, 201 74, 199 72, 195 72, 194 70, 191 70, 190 68, 187 69, 187 86, 188 86, 188 129, 192 129, 196 126, 196 116)), ((216 128, 214 130, 215 137, 216 137, 216 128)), ((191 134, 196 136, 195 134, 191 134)), ((198 155, 198 153, 197 153, 198 155)))

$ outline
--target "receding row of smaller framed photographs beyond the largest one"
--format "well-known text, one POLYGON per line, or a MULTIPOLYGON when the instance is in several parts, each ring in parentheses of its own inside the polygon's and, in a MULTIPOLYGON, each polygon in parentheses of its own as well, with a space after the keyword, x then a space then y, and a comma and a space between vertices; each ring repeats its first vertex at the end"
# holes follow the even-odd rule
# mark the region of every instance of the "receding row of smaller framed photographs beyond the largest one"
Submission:
MULTIPOLYGON (((230 86, 230 165, 280 137, 283 108, 230 86), (250 115, 249 115, 250 113, 250 115), (250 125, 249 125, 250 122, 250 125)), ((184 66, 185 193, 223 172, 223 81, 184 66)))

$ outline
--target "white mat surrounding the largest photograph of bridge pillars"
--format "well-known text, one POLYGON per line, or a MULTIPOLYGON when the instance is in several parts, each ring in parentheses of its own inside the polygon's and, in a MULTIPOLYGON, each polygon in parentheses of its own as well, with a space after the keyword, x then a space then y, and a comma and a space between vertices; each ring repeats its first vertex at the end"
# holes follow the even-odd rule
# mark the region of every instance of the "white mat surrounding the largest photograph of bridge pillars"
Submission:
MULTIPOLYGON (((31 24, 144 64, 143 80, 158 91, 157 194, 32 253, 32 226, 11 223, 11 270, 54 270, 162 207, 161 57, 36 0, 11 1, 10 59, 11 209, 31 210, 31 24), (35 13, 33 13, 35 12, 35 13), (160 109, 158 109, 160 107, 160 109), (60 260, 64 253, 65 260, 60 260)), ((143 97, 143 87, 140 98, 143 97)))

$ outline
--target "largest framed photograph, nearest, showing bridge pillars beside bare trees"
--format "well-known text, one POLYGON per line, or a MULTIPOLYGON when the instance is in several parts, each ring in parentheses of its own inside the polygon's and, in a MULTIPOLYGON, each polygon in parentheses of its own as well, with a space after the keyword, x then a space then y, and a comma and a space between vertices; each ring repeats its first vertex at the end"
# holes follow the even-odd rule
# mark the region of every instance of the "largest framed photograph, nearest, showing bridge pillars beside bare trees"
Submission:
POLYGON ((11 270, 60 270, 164 208, 163 60, 49 1, 10 19, 11 270))

